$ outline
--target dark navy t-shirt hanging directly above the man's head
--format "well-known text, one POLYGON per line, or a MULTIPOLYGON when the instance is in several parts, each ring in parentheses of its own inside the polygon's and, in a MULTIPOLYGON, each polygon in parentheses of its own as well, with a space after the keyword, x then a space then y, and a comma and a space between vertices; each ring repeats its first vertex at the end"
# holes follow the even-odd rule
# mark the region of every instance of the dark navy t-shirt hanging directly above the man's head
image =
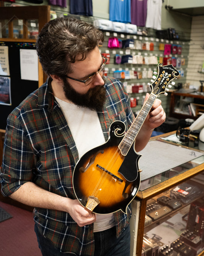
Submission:
POLYGON ((70 0, 70 13, 83 16, 93 16, 92 0, 70 0))

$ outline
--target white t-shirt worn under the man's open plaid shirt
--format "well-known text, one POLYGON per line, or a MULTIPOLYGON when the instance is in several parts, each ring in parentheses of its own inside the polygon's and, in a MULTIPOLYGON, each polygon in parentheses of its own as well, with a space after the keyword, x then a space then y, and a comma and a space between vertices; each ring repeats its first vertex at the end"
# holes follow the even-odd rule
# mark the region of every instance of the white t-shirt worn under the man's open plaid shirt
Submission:
MULTIPOLYGON (((94 110, 77 106, 60 100, 59 103, 75 141, 79 158, 86 152, 105 143, 98 114, 94 110)), ((114 214, 96 214, 94 232, 103 231, 115 226, 114 214)))

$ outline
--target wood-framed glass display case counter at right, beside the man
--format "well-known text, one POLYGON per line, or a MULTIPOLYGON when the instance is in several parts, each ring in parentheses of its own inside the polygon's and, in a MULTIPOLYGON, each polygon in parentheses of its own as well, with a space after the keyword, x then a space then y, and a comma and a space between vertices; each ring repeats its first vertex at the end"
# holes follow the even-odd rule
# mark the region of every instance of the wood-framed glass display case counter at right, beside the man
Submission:
POLYGON ((147 179, 132 202, 131 256, 204 255, 204 151, 177 143, 175 132, 148 144, 139 164, 147 179))

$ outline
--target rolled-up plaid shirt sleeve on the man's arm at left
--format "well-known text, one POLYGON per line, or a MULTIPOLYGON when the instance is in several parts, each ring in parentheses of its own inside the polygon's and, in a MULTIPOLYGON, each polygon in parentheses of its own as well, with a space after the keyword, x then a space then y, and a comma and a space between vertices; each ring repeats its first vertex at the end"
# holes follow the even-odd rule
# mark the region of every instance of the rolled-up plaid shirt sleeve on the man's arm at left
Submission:
POLYGON ((21 185, 32 180, 34 153, 15 113, 7 119, 3 147, 1 183, 3 196, 9 196, 21 185))

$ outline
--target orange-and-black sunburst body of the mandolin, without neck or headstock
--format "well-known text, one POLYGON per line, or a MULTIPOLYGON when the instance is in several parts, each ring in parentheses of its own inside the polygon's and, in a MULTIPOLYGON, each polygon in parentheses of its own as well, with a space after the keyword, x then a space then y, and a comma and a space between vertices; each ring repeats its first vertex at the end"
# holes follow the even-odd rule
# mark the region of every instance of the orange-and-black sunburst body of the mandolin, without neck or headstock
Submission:
POLYGON ((125 131, 121 121, 109 128, 108 141, 88 151, 78 161, 73 173, 73 187, 78 201, 94 213, 107 214, 121 209, 126 213, 128 204, 137 194, 140 185, 138 161, 141 155, 134 143, 124 157, 118 149, 125 131), (98 199, 92 210, 88 198, 98 199))

